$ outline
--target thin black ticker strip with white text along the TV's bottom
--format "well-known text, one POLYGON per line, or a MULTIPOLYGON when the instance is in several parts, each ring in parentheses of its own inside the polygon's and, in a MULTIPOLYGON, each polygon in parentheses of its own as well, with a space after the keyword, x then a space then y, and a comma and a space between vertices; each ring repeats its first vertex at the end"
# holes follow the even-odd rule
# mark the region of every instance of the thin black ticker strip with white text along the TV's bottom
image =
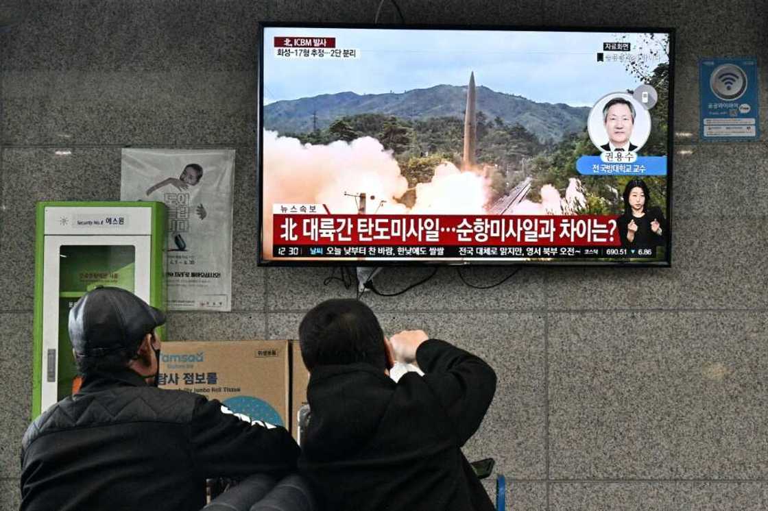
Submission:
POLYGON ((574 246, 349 246, 276 245, 273 257, 302 258, 542 258, 542 259, 655 259, 656 249, 574 246))

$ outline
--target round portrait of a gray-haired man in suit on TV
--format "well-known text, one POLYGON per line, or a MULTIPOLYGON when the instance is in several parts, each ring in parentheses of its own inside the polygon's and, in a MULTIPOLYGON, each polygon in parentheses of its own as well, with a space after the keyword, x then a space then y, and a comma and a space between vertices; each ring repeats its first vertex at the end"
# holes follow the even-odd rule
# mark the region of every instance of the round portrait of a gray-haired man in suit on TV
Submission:
POLYGON ((601 151, 637 152, 650 135, 650 114, 631 94, 611 92, 590 110, 587 131, 601 151))

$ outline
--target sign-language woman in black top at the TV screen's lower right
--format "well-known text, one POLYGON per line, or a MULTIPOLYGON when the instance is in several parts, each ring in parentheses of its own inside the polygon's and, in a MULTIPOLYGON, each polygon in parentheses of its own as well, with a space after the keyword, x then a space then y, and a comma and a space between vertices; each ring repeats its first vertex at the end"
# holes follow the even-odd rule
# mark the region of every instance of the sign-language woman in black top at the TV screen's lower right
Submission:
POLYGON ((624 188, 624 215, 617 220, 621 244, 630 249, 650 249, 667 244, 667 221, 658 207, 650 207, 650 192, 643 180, 624 188))

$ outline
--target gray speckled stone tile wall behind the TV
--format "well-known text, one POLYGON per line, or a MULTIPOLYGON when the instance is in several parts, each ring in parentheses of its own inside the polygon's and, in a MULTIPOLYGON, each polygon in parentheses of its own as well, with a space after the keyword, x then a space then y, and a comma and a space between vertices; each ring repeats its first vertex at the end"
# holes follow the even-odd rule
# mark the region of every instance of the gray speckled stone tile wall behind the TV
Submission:
MULTIPOLYGON (((27 16, 0 32, 0 509, 18 508, 30 406, 35 201, 118 199, 124 145, 235 148, 233 312, 174 313, 170 337, 295 337, 307 308, 354 292, 324 269, 256 265, 257 22, 371 22, 379 2, 5 0, 0 19, 13 5, 27 16)), ((704 56, 756 55, 768 104, 765 3, 399 5, 411 23, 677 28, 673 269, 523 269, 488 291, 442 269, 363 299, 388 331, 424 327, 495 366, 467 452, 496 458, 508 509, 768 508, 768 108, 760 143, 700 143, 697 127, 704 56)), ((381 19, 396 21, 389 2, 381 19)))

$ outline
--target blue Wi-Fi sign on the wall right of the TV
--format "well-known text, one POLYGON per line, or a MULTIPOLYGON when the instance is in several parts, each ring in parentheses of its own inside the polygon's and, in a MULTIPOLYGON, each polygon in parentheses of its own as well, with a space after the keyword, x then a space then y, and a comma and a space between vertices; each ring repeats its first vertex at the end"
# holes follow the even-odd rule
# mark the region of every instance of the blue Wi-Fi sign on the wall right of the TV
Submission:
POLYGON ((701 140, 760 138, 756 58, 704 58, 699 62, 701 140))

